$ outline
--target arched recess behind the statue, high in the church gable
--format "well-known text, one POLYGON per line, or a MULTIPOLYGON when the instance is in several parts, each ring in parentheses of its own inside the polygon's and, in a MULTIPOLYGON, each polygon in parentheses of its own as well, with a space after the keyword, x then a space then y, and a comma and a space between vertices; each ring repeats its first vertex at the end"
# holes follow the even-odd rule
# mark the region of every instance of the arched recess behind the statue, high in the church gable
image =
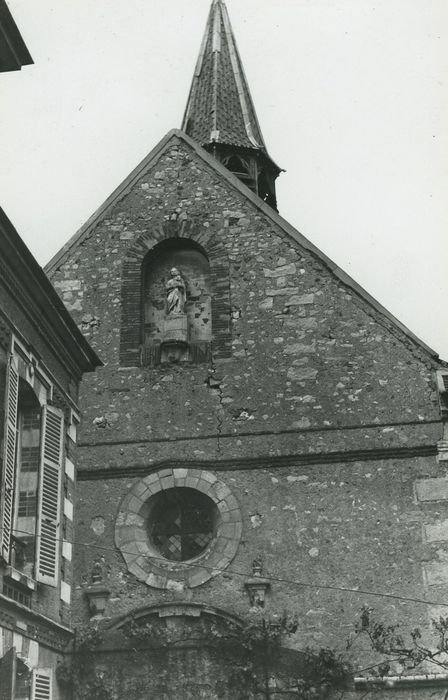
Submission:
POLYGON ((208 359, 212 340, 210 264, 190 239, 157 244, 142 265, 144 363, 197 362, 208 359), (170 314, 167 284, 176 269, 185 284, 182 313, 170 314), (173 325, 174 324, 174 325, 173 325))

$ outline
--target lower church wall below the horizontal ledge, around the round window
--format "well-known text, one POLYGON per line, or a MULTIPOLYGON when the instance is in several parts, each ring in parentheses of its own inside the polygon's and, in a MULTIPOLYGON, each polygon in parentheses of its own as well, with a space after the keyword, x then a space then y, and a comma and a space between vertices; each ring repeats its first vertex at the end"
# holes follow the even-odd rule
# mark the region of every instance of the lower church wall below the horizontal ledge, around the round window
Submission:
MULTIPOLYGON (((427 515, 414 495, 422 472, 430 473, 422 458, 220 471, 220 482, 242 514, 236 556, 222 575, 202 586, 162 590, 137 580, 115 547, 118 511, 135 481, 79 482, 77 540, 88 544, 76 550, 75 569, 84 575, 74 615, 87 619, 85 586, 100 559, 110 589, 107 617, 129 614, 143 604, 187 600, 253 620, 257 613, 245 583, 252 577, 253 560, 261 558, 263 576, 271 579, 265 611, 281 616, 287 610, 297 617, 294 641, 299 646, 343 649, 364 603, 386 619, 412 614, 414 626, 426 627, 427 606, 365 593, 425 597, 421 533, 427 515)), ((432 472, 437 472, 435 463, 432 472)), ((123 549, 131 551, 131 544, 123 549)))

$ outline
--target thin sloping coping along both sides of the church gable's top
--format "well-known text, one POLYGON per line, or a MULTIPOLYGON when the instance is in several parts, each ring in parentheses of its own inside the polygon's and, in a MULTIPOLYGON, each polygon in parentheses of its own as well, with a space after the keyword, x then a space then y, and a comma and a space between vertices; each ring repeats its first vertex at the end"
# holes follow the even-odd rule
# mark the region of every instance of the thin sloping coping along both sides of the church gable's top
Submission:
POLYGON ((359 297, 385 316, 393 325, 395 325, 402 333, 404 333, 412 342, 418 345, 422 350, 429 354, 433 360, 443 362, 439 354, 427 345, 423 340, 415 335, 407 326, 405 326, 396 316, 388 311, 379 301, 367 292, 360 284, 358 284, 350 275, 342 270, 331 258, 323 253, 317 246, 309 241, 303 234, 295 229, 292 224, 288 223, 280 214, 275 212, 268 204, 263 202, 252 190, 244 185, 236 175, 230 172, 224 165, 210 155, 202 146, 194 139, 188 136, 185 132, 179 129, 171 129, 161 141, 153 148, 153 150, 144 158, 139 165, 128 175, 128 177, 114 190, 114 192, 106 199, 99 209, 86 221, 77 233, 56 253, 56 255, 45 266, 47 273, 52 272, 56 266, 62 261, 63 257, 78 243, 83 236, 94 228, 100 217, 106 212, 109 207, 114 206, 132 187, 134 182, 141 176, 142 172, 148 168, 152 161, 156 160, 158 155, 165 149, 166 145, 173 138, 184 141, 192 148, 197 155, 206 162, 211 168, 220 174, 230 185, 234 187, 246 199, 252 202, 254 206, 265 214, 273 223, 279 226, 286 234, 291 236, 302 248, 312 253, 321 263, 323 263, 344 285, 352 289, 359 297))

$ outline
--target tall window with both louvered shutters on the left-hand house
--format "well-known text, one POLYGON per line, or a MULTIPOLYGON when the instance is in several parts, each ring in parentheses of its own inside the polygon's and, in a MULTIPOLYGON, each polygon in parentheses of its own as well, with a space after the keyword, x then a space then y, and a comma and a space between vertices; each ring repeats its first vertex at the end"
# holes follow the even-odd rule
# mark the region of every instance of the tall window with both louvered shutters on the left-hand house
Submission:
POLYGON ((0 503, 2 558, 28 579, 56 586, 64 416, 51 385, 20 352, 7 368, 0 503))

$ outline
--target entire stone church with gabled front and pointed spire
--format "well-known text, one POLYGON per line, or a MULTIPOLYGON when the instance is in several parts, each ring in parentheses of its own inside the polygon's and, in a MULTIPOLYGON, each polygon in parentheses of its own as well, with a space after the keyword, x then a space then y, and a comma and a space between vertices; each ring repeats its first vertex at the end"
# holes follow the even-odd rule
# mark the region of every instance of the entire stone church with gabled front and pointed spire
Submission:
POLYGON ((448 602, 447 365, 276 213, 220 0, 183 128, 47 268, 104 361, 80 393, 78 697, 253 697, 244 630, 286 612, 275 698, 363 604, 426 629, 448 602))

